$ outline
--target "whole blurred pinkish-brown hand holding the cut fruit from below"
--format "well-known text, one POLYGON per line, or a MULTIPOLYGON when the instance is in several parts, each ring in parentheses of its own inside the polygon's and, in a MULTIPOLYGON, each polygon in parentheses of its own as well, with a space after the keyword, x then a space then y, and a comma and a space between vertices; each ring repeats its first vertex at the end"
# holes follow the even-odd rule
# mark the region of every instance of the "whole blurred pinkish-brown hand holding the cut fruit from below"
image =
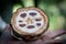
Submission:
POLYGON ((55 32, 46 31, 40 38, 25 42, 23 40, 18 41, 16 38, 12 37, 10 31, 11 26, 8 24, 1 34, 0 44, 62 44, 62 40, 56 37, 66 34, 66 31, 64 30, 58 30, 55 32))

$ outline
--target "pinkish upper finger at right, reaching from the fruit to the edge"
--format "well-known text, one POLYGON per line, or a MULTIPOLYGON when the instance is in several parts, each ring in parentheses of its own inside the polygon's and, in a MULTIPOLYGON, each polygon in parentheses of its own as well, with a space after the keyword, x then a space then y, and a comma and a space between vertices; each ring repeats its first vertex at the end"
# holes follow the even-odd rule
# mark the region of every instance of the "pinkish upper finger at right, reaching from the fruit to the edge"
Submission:
POLYGON ((55 38, 57 36, 61 36, 63 34, 66 34, 66 31, 65 30, 58 30, 58 31, 54 31, 54 32, 50 32, 47 31, 45 34, 44 34, 44 37, 45 38, 55 38))

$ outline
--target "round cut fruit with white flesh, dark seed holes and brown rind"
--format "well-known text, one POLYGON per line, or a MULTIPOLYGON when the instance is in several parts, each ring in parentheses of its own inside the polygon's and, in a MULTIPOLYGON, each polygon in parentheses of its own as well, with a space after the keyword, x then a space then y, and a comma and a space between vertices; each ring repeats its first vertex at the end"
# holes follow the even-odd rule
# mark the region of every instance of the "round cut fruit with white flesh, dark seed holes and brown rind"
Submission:
POLYGON ((25 37, 25 40, 26 36, 24 35, 30 35, 29 40, 35 40, 40 35, 42 35, 41 33, 47 31, 48 18, 41 9, 32 7, 21 8, 13 13, 11 19, 11 25, 12 29, 18 34, 25 37), (31 38, 31 36, 33 37, 31 38))

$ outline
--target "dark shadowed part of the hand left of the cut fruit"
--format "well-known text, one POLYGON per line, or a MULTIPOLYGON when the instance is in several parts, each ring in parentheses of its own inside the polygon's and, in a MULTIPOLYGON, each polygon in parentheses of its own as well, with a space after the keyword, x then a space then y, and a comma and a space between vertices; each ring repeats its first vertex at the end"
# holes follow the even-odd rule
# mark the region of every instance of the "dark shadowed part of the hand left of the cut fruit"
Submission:
POLYGON ((0 43, 1 44, 6 44, 7 42, 9 42, 10 40, 12 40, 11 35, 10 35, 10 25, 8 24, 4 29, 4 31, 1 34, 0 37, 0 43))

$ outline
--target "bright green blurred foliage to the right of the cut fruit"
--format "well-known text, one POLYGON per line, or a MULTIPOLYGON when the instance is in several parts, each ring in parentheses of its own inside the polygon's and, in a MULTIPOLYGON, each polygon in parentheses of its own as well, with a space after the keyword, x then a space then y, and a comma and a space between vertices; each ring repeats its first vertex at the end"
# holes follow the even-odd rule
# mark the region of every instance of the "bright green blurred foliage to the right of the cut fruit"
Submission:
POLYGON ((65 18, 62 15, 61 10, 56 4, 48 4, 45 1, 40 1, 37 4, 50 18, 50 31, 55 31, 64 28, 65 18))

